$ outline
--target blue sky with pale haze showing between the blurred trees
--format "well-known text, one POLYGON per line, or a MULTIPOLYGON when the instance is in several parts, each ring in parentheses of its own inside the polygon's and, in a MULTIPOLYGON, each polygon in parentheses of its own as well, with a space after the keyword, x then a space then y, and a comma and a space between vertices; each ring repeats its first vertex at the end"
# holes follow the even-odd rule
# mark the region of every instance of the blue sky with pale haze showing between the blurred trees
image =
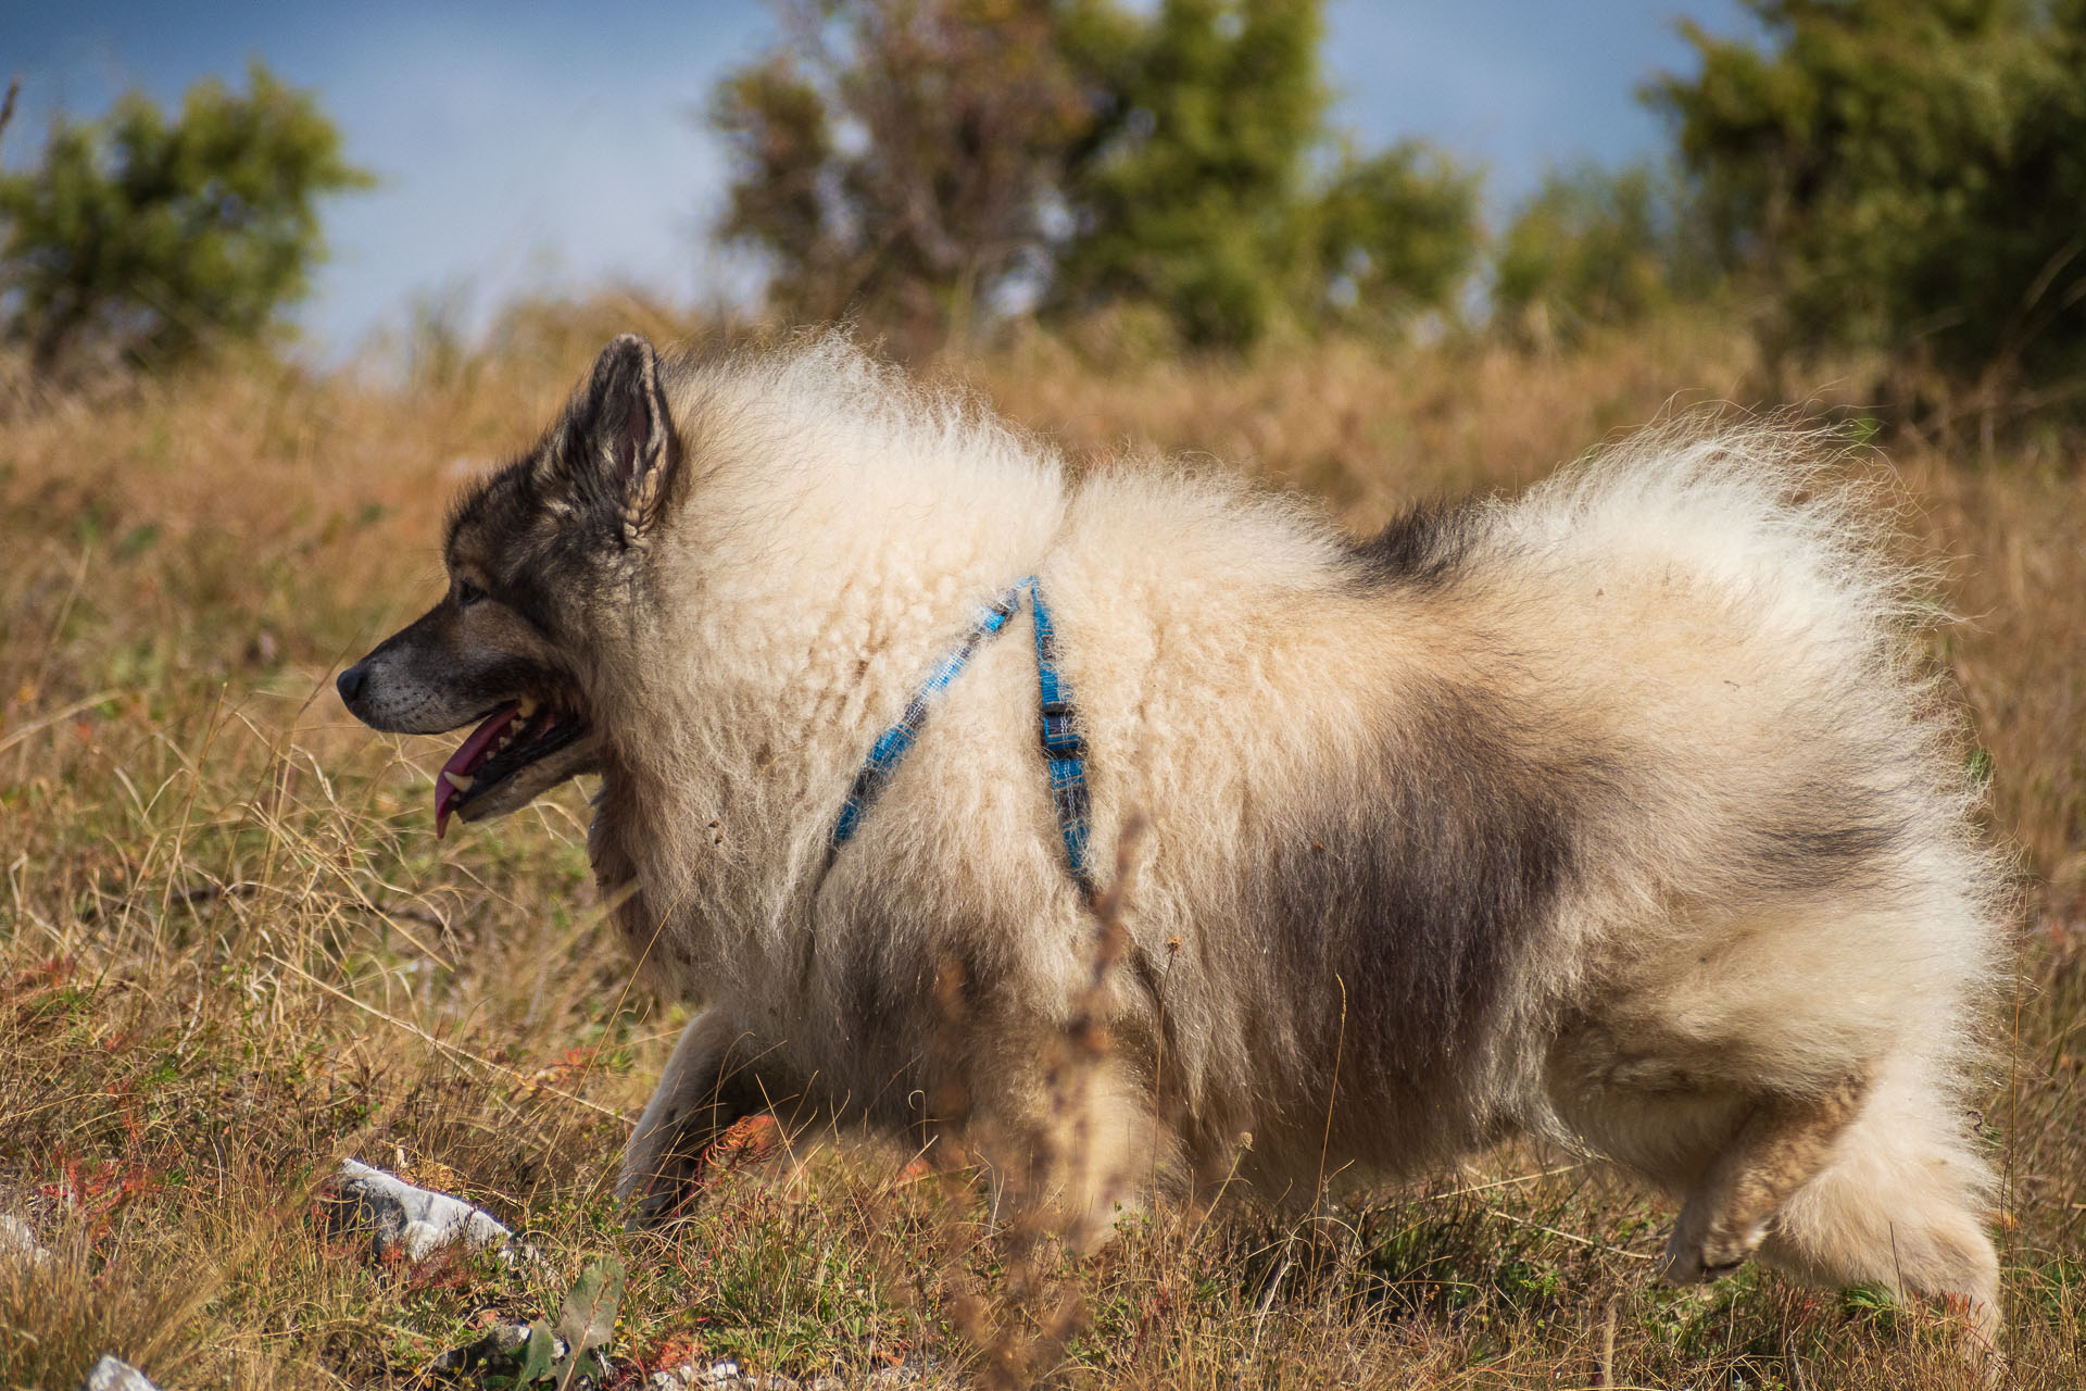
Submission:
MULTIPOLYGON (((1481 163, 1498 213, 1550 165, 1658 146, 1633 90, 1688 67, 1681 15, 1748 27, 1738 0, 1331 0, 1333 119, 1364 148, 1425 136, 1481 163)), ((755 0, 0 0, 0 35, 23 77, 6 167, 56 111, 92 117, 125 88, 173 102, 248 56, 317 90, 380 177, 330 206, 332 261, 298 313, 330 359, 403 325, 415 294, 480 323, 517 290, 622 279, 688 300, 753 284, 703 244, 726 161, 690 113, 774 42, 755 0)))

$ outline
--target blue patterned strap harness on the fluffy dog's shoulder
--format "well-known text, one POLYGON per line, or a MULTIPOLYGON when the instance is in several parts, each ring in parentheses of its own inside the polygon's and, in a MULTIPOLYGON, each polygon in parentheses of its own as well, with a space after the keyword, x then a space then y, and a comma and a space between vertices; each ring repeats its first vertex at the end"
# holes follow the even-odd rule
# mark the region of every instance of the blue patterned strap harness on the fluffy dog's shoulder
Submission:
POLYGON ((899 715, 899 722, 870 745, 870 757, 862 763, 862 772, 855 774, 853 786, 847 788, 847 803, 841 807, 841 817, 832 824, 828 863, 841 853, 843 845, 855 838, 855 832, 862 828, 862 815, 882 795, 884 784, 891 782, 891 774, 897 772, 905 753, 920 738, 920 728, 926 724, 935 697, 947 690, 949 682, 970 665, 970 659, 987 638, 1008 626, 1022 607, 1024 594, 1028 596, 1028 609, 1035 613, 1037 628, 1037 690, 1041 694, 1049 799, 1058 811, 1058 834, 1064 836, 1064 857, 1072 870, 1072 880, 1083 890, 1093 893, 1093 872, 1087 863, 1087 740, 1081 738, 1072 713, 1072 688, 1058 672, 1058 632, 1051 628, 1049 609, 1043 605, 1043 590, 1037 586, 1035 576, 1018 580, 978 615, 978 621, 970 626, 964 640, 941 655, 928 678, 905 701, 905 713, 899 715))

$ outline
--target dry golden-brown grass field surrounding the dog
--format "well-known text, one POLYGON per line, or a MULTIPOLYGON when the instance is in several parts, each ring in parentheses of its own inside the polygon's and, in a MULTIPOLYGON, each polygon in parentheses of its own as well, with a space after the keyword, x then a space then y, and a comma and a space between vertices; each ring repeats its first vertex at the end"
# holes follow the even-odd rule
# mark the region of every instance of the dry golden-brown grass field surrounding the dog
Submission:
MULTIPOLYGON (((624 1235, 617 1149, 686 1014, 601 924, 584 788, 436 843, 446 745, 373 736, 332 692, 436 594, 457 482, 524 446, 609 332, 682 325, 599 302, 509 327, 409 386, 248 365, 0 423, 0 1212, 56 1253, 0 1264, 0 1385, 65 1391, 102 1351, 169 1391, 428 1385, 605 1255, 630 1272, 622 1385, 724 1356, 1020 1378, 995 1326, 1066 1299, 1083 1331, 1028 1349, 1053 1385, 1971 1385, 1942 1316, 1871 1291, 1652 1287, 1671 1212, 1546 1153, 1343 1191, 1323 1222, 1162 1212, 1047 1270, 1005 1268, 962 1176, 866 1149, 722 1174, 670 1235, 624 1235), (342 1155, 486 1205, 544 1262, 371 1260, 315 1210, 342 1155)), ((1748 392, 1742 344, 1685 323, 1552 359, 1335 344, 1243 367, 1035 338, 939 371, 1081 457, 1193 450, 1356 526, 1748 392)), ((1963 757, 2023 874, 1982 1112, 2009 1376, 2078 1387, 2086 461, 1890 453, 1907 544, 1963 615, 1938 638, 1963 757)))

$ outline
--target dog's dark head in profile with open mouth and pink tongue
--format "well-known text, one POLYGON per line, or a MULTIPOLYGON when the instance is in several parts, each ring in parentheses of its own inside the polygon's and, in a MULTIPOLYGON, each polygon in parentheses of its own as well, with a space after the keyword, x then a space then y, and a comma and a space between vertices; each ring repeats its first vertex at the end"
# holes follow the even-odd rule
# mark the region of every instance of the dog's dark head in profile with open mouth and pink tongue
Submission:
POLYGON ((438 832, 603 767, 590 678, 630 621, 680 455, 659 357, 624 334, 536 448, 459 498, 440 603, 340 674, 371 728, 478 722, 436 778, 438 832))

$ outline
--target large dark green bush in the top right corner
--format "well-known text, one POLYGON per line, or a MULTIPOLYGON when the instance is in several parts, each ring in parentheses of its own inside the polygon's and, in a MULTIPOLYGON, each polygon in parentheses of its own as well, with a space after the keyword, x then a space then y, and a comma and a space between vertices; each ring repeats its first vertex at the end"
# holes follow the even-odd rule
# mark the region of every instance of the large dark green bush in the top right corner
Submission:
POLYGON ((1688 38, 1648 92, 1771 359, 1871 346, 1982 375, 2086 373, 2086 4, 1750 0, 1767 44, 1688 38))

